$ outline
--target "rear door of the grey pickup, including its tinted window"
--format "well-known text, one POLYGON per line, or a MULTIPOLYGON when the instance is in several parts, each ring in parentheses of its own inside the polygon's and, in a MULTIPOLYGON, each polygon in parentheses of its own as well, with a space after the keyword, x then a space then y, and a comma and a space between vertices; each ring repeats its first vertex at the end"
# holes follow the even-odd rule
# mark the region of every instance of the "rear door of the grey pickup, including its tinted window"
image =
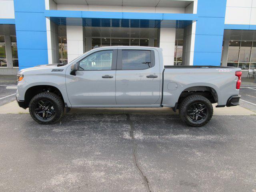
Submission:
POLYGON ((116 103, 159 106, 160 102, 160 66, 154 50, 118 49, 116 103))

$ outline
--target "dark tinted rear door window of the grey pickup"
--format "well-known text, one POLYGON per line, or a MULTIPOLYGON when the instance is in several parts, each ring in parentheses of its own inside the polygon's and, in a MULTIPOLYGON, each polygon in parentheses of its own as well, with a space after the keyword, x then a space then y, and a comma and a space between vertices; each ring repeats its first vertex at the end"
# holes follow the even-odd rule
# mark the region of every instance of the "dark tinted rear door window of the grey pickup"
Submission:
POLYGON ((141 70, 152 67, 151 51, 122 50, 122 69, 141 70))

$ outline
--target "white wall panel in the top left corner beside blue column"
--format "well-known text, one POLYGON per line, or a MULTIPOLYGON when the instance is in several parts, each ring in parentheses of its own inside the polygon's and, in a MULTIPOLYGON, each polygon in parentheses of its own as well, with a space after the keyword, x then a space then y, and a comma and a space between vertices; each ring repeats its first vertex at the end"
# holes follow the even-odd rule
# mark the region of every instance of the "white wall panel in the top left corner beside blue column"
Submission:
POLYGON ((0 0, 0 18, 14 19, 14 4, 13 0, 0 0))

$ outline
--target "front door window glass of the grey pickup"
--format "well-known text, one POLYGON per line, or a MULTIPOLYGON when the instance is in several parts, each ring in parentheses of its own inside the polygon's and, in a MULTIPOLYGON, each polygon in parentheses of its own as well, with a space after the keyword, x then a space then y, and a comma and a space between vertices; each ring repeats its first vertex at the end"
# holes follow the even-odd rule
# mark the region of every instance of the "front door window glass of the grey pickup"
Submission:
POLYGON ((112 50, 93 53, 79 62, 79 70, 111 70, 112 50))

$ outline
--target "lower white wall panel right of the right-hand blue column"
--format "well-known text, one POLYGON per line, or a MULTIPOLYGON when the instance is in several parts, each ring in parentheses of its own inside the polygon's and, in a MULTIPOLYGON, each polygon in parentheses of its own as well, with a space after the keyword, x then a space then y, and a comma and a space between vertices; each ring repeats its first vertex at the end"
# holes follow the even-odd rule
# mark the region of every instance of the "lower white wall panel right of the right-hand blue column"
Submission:
POLYGON ((225 24, 250 24, 251 8, 227 7, 225 24))

